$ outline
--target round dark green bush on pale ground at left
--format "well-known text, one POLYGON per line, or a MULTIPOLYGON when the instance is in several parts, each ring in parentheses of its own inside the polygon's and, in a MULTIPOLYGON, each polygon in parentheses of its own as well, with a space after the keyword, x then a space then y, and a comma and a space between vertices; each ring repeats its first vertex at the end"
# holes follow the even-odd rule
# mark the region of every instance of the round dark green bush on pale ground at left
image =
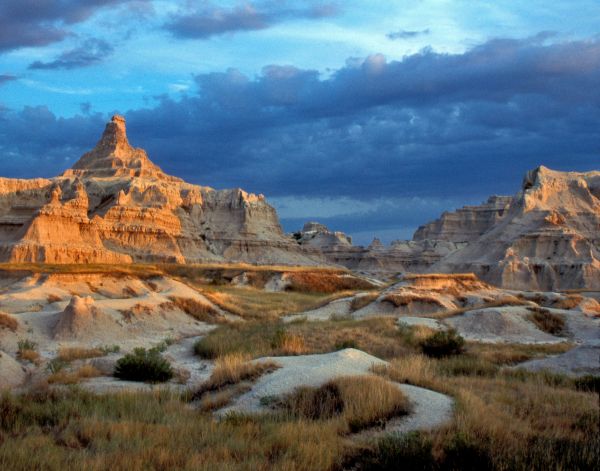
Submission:
POLYGON ((128 353, 117 361, 114 372, 114 376, 119 379, 150 383, 169 381, 173 375, 171 364, 153 348, 136 348, 133 353, 128 353))

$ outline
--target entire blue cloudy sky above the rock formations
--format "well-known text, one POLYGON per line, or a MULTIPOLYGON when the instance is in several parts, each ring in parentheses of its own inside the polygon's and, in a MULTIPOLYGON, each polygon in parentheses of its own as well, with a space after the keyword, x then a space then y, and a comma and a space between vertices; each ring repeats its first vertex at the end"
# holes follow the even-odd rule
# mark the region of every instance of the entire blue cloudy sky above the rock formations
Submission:
POLYGON ((287 231, 407 239, 600 170, 598 0, 2 0, 0 176, 51 177, 114 113, 167 173, 287 231))

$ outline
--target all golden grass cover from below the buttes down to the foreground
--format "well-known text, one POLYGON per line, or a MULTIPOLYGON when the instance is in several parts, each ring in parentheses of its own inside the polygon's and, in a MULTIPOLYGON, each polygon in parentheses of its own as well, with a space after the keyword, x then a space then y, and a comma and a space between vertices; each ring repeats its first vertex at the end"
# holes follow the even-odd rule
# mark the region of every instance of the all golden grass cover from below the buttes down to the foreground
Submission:
MULTIPOLYGON (((65 266, 33 268, 45 273, 67 270, 65 266)), ((84 267, 80 273, 106 269, 84 267)), ((310 276, 301 277, 301 289, 289 292, 206 281, 207 276, 215 279, 212 270, 224 274, 217 279, 227 280, 240 269, 170 269, 170 276, 244 319, 224 321, 196 343, 197 355, 216 364, 207 382, 185 393, 155 389, 94 395, 77 383, 98 372, 77 362, 106 352, 63 348, 57 361, 75 366, 56 368, 52 383, 60 387, 40 384, 23 395, 0 394, 0 469, 584 470, 597 466, 598 379, 512 368, 522 361, 562 353, 572 345, 467 342, 460 354, 431 358, 424 355, 422 343, 433 332, 425 327, 398 328, 391 318, 282 323, 279 317, 284 313, 355 292, 337 284, 329 292, 329 278, 325 288, 310 289, 314 269, 310 276), (385 359, 389 366, 377 368, 374 376, 302 388, 274 400, 272 412, 262 416, 214 418, 213 410, 279 366, 272 362, 257 367, 252 359, 348 347, 385 359), (456 401, 452 421, 428 432, 356 440, 354 432, 410 409, 384 379, 452 396, 456 401), (197 407, 191 407, 191 401, 197 407)), ((114 273, 114 267, 110 270, 114 273)), ((126 266, 122 273, 138 276, 136 270, 156 276, 167 268, 126 266)), ((272 272, 265 268, 258 273, 254 282, 260 284, 272 272)), ((198 317, 214 316, 202 306, 184 307, 198 317)), ((10 319, 3 322, 5 330, 11 328, 10 319)))

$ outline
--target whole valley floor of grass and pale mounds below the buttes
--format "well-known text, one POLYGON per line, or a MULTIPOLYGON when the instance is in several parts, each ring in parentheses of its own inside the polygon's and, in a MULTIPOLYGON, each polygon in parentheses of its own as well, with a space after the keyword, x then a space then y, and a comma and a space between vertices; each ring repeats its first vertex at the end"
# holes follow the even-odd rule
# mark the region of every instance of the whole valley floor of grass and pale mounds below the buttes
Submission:
POLYGON ((600 459, 595 293, 246 265, 0 270, 0 469, 600 459), (131 381, 124 357, 170 377, 131 381))

